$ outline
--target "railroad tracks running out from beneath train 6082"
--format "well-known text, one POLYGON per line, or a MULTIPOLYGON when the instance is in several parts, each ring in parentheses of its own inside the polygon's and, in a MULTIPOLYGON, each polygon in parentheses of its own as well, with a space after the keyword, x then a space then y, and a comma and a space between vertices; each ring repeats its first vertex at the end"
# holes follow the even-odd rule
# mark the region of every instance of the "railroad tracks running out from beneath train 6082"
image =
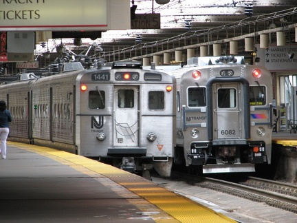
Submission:
POLYGON ((254 202, 265 202, 278 209, 297 213, 297 186, 294 184, 254 177, 230 182, 178 172, 173 172, 171 179, 182 180, 196 187, 228 193, 254 202))

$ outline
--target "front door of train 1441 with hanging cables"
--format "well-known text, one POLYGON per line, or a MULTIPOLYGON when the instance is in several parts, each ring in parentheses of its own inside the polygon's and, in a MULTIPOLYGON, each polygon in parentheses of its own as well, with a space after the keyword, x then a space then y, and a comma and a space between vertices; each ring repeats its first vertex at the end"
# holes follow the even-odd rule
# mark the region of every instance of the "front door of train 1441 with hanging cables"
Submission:
POLYGON ((138 147, 139 89, 137 86, 114 87, 115 147, 138 147))

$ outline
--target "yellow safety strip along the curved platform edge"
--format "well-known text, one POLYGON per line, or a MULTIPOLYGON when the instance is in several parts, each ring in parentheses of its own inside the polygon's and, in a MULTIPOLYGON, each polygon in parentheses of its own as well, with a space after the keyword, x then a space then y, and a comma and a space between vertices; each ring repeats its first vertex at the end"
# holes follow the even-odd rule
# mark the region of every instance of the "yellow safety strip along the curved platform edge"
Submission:
MULTIPOLYGON (((39 153, 63 164, 65 164, 63 160, 67 160, 73 164, 80 165, 91 171, 100 173, 101 175, 106 176, 114 182, 122 185, 126 189, 129 189, 129 191, 133 191, 133 193, 139 195, 151 204, 157 206, 159 209, 162 209, 166 213, 172 215, 180 222, 236 222, 229 217, 221 213, 217 213, 206 206, 183 197, 182 195, 159 187, 155 183, 145 180, 140 176, 136 176, 133 173, 123 171, 116 167, 111 167, 109 164, 104 164, 96 160, 85 158, 84 156, 79 156, 73 153, 51 149, 48 147, 26 145, 23 143, 10 141, 8 142, 8 145, 39 153), (137 182, 133 182, 133 180, 137 182)), ((68 165, 72 167, 71 164, 68 165)), ((158 220, 157 222, 168 221, 158 220)))

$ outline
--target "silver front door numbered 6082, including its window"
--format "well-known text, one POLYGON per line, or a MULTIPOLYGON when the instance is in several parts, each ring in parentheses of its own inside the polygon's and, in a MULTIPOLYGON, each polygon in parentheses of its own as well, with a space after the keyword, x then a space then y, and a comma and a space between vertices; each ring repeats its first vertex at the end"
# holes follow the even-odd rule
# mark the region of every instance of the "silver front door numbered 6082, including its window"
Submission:
POLYGON ((242 95, 239 83, 214 84, 214 140, 243 138, 242 95))

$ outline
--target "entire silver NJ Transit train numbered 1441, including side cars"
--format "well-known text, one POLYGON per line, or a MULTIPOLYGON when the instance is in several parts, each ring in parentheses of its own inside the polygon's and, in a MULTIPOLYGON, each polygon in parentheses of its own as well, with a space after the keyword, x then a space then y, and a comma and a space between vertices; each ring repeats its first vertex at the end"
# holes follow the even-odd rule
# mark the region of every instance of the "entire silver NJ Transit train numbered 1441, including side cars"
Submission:
POLYGON ((153 66, 115 62, 42 78, 28 74, 0 85, 0 98, 13 117, 9 140, 170 176, 175 86, 173 75, 153 66))

